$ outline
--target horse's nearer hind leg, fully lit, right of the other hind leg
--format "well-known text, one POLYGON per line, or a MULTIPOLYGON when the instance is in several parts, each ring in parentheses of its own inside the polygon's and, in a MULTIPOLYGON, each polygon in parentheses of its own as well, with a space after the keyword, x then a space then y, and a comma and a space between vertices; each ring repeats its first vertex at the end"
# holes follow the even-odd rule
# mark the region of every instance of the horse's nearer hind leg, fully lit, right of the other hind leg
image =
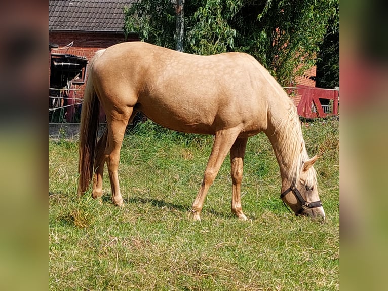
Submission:
POLYGON ((110 118, 107 124, 108 136, 105 148, 105 157, 109 172, 110 186, 112 189, 112 201, 115 205, 118 206, 123 205, 123 198, 120 193, 118 175, 120 149, 123 142, 125 129, 127 127, 131 113, 127 114, 124 118, 122 116, 120 120, 110 118))

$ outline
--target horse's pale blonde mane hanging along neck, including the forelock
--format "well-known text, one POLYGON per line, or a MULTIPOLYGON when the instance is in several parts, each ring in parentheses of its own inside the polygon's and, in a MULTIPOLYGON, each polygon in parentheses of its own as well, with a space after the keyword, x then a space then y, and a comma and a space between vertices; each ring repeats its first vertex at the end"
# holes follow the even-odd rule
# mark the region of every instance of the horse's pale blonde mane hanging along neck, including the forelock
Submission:
MULTIPOLYGON (((281 151, 281 156, 286 159, 282 162, 288 168, 292 185, 296 185, 299 181, 303 162, 307 161, 309 157, 302 135, 299 116, 292 102, 290 102, 286 118, 279 123, 275 132, 278 136, 278 149, 281 151)), ((308 171, 307 179, 304 183, 311 184, 314 181, 316 182, 316 179, 316 172, 312 167, 308 171)))

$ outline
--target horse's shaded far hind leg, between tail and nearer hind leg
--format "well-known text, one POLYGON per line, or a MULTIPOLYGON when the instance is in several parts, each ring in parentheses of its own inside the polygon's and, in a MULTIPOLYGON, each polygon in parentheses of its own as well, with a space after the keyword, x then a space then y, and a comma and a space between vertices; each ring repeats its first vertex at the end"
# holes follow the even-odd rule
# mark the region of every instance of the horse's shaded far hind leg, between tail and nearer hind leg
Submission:
POLYGON ((102 176, 104 174, 104 164, 105 164, 105 147, 106 140, 108 136, 108 129, 105 128, 104 133, 100 137, 96 145, 96 172, 93 179, 93 193, 92 196, 94 199, 99 199, 102 196, 102 176))

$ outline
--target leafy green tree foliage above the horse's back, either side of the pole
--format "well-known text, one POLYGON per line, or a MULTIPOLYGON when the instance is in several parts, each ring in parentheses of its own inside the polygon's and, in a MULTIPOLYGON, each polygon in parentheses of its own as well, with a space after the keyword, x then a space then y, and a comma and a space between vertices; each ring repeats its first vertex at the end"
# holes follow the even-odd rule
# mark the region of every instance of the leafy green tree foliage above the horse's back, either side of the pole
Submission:
MULTIPOLYGON (((338 0, 186 0, 184 51, 254 56, 289 85, 315 65, 338 0)), ((124 32, 175 48, 175 1, 139 0, 125 9, 124 32)))

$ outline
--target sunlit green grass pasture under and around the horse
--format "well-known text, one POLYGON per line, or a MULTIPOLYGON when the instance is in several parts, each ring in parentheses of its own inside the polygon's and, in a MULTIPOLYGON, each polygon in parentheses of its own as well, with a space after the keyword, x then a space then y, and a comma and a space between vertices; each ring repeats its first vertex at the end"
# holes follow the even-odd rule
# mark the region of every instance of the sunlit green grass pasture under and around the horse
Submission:
POLYGON ((147 121, 129 132, 119 167, 125 207, 76 197, 78 143, 49 139, 50 290, 338 290, 339 121, 302 126, 326 221, 291 215, 268 138, 251 137, 242 206, 230 211, 227 157, 201 222, 189 209, 202 182, 212 136, 176 133, 147 121))

